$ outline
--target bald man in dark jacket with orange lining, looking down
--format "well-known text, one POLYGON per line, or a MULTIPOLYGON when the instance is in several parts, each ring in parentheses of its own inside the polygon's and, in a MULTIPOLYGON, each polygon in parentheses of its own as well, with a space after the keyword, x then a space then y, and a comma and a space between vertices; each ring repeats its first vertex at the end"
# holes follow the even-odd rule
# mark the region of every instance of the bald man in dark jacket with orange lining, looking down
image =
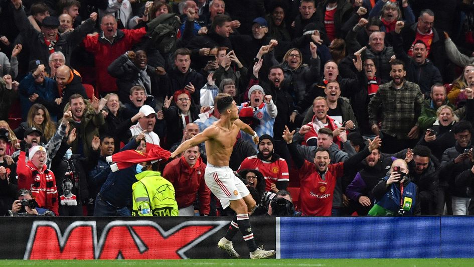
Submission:
POLYGON ((64 106, 69 101, 69 97, 73 94, 80 94, 84 99, 89 99, 86 95, 86 90, 82 86, 82 79, 76 75, 71 68, 66 65, 60 66, 56 69, 56 88, 58 90, 60 100, 56 103, 60 105, 59 113, 63 113, 64 106))

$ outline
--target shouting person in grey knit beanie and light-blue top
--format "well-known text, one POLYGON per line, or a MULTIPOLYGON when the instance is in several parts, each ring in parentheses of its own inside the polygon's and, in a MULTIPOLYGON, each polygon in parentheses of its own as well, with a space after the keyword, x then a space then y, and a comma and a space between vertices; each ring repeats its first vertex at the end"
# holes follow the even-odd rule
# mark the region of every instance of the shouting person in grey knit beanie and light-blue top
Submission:
MULTIPOLYGON (((249 102, 239 106, 239 116, 257 132, 257 135, 273 136, 273 124, 277 115, 277 109, 271 95, 265 95, 263 88, 255 84, 248 90, 249 102)), ((243 135, 242 138, 252 142, 252 137, 243 135)), ((254 146, 256 149, 257 147, 254 146)))

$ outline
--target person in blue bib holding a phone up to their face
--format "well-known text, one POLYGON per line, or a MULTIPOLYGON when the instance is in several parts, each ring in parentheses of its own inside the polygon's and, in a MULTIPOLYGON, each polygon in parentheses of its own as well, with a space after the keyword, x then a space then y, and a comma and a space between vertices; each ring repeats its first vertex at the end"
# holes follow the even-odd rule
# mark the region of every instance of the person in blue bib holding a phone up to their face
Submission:
POLYGON ((408 176, 408 166, 404 160, 392 163, 390 175, 385 176, 372 189, 377 200, 369 211, 370 216, 420 215, 421 205, 418 186, 408 176))

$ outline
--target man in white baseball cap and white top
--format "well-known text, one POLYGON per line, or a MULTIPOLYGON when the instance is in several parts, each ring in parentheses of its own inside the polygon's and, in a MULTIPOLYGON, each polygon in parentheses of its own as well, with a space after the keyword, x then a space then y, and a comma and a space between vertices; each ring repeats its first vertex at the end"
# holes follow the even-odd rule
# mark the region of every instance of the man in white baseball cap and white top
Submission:
POLYGON ((140 107, 139 112, 143 113, 143 117, 139 118, 138 122, 130 127, 128 137, 136 136, 143 132, 146 143, 159 146, 160 137, 153 131, 154 124, 156 123, 156 112, 149 105, 140 107))

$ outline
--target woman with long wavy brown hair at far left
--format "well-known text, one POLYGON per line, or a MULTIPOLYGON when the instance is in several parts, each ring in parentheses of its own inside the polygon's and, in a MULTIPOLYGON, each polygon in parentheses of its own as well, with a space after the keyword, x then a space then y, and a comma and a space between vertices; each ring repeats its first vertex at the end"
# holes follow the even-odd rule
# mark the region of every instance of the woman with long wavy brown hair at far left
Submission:
POLYGON ((27 119, 22 122, 18 128, 15 129, 15 135, 23 137, 25 130, 35 127, 43 132, 41 136, 41 143, 48 143, 56 132, 56 123, 51 120, 48 109, 39 103, 33 104, 28 111, 27 119))

